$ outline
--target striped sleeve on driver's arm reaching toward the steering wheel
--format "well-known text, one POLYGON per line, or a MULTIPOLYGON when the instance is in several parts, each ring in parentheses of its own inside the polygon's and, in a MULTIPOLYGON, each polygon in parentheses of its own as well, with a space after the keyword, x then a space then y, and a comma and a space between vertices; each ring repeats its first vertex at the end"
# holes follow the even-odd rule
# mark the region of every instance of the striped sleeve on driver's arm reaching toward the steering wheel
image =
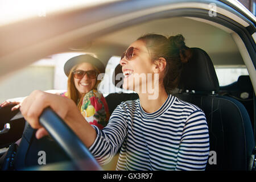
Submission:
POLYGON ((93 127, 96 130, 97 137, 92 146, 89 147, 89 151, 99 164, 106 164, 116 154, 126 137, 127 121, 125 109, 118 105, 104 129, 100 130, 97 126, 93 127))

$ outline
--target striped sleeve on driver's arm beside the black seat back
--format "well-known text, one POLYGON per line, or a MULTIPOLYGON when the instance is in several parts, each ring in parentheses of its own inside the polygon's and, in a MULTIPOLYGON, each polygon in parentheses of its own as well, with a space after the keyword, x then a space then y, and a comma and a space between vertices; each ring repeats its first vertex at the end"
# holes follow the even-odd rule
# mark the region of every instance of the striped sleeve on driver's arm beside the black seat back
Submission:
POLYGON ((209 155, 209 131, 201 110, 189 115, 182 133, 176 170, 204 170, 209 155))

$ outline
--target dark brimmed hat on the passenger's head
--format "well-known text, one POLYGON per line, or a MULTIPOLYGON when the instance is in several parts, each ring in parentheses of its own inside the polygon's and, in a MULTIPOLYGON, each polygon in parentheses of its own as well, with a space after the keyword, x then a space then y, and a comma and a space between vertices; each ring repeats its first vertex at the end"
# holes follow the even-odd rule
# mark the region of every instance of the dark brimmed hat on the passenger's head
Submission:
POLYGON ((79 55, 67 60, 67 62, 64 65, 65 74, 68 76, 69 72, 71 71, 71 68, 73 68, 73 66, 75 66, 76 64, 80 63, 90 63, 94 67, 96 67, 98 71, 100 71, 100 73, 105 73, 105 66, 103 63, 101 63, 99 59, 90 55, 79 55))

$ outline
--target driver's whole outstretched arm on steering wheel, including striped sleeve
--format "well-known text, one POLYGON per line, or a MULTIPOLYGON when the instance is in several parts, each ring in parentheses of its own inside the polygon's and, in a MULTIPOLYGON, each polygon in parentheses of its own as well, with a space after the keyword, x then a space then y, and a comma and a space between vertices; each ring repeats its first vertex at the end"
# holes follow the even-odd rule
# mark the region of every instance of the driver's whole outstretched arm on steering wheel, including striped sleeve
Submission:
POLYGON ((109 124, 103 130, 99 130, 96 126, 94 129, 82 117, 72 100, 35 90, 22 102, 20 111, 31 127, 38 129, 38 139, 47 135, 47 131, 39 123, 39 116, 48 106, 71 127, 100 164, 110 161, 127 135, 127 115, 125 108, 121 106, 114 110, 109 124))

